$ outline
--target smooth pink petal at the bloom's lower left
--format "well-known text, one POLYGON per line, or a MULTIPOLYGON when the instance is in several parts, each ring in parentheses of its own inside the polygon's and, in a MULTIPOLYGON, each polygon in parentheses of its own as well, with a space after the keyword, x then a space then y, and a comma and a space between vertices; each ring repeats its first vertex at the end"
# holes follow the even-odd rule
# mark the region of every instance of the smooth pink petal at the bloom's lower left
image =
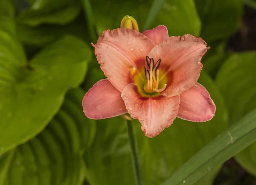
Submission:
POLYGON ((84 95, 84 114, 100 120, 127 113, 121 93, 108 81, 100 80, 84 95))

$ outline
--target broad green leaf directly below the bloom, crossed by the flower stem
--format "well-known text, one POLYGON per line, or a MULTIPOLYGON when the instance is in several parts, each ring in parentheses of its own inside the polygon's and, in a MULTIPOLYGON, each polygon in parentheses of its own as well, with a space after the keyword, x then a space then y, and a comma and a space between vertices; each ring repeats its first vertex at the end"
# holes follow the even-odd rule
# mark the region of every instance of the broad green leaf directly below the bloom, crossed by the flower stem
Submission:
MULTIPOLYGON (((226 128, 227 114, 218 88, 204 72, 199 82, 210 92, 217 107, 211 121, 195 123, 177 118, 169 128, 154 138, 145 137, 140 123, 133 121, 143 184, 159 185, 226 128)), ((124 120, 116 117, 97 122, 95 140, 85 155, 90 184, 134 184, 124 120)), ((210 185, 217 171, 218 168, 215 168, 201 182, 210 185)))

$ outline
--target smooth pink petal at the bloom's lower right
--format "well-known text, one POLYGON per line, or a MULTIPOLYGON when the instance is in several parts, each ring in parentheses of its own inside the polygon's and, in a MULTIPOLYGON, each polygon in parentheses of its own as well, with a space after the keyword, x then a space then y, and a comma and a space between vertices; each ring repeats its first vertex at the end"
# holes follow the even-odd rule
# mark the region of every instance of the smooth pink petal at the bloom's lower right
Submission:
POLYGON ((205 122, 211 120, 216 107, 209 92, 200 83, 180 94, 180 109, 177 117, 193 121, 205 122))

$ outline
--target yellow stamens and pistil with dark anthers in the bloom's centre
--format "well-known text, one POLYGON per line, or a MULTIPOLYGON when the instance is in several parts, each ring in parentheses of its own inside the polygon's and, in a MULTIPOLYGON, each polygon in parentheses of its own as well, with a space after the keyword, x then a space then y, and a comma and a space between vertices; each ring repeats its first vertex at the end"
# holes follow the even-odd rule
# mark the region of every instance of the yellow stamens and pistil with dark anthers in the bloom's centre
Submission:
POLYGON ((166 84, 163 88, 158 89, 159 86, 159 66, 161 59, 157 60, 157 63, 154 62, 153 58, 146 57, 146 66, 145 66, 145 77, 147 79, 147 84, 144 86, 144 91, 147 93, 162 92, 166 88, 166 84))

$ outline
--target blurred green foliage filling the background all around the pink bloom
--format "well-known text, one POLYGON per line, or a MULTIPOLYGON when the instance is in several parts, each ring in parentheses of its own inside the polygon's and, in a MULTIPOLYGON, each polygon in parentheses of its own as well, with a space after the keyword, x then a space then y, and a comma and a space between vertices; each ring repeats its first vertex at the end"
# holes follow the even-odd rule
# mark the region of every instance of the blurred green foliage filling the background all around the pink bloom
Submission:
MULTIPOLYGON (((165 25, 211 47, 199 79, 217 107, 211 121, 176 119, 153 139, 133 121, 145 185, 164 182, 256 108, 255 52, 225 50, 241 27, 241 0, 0 0, 0 185, 134 184, 124 120, 89 120, 81 107, 105 78, 90 42, 125 15, 140 32, 165 25)), ((256 176, 255 156, 253 144, 236 159, 256 176)), ((219 168, 197 185, 211 185, 219 168)))

